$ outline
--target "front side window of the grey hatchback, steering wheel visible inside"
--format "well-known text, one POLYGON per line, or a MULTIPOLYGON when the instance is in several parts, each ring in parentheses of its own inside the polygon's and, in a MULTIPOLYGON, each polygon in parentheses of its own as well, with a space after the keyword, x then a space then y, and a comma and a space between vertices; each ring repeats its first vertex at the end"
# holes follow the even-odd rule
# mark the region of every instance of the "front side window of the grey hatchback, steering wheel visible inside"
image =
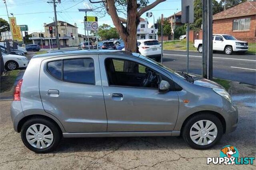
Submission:
MULTIPOLYGON (((140 88, 158 88, 160 74, 142 64, 124 59, 105 60, 110 86, 132 86, 140 88), (148 76, 151 74, 151 78, 148 76), (145 81, 145 78, 149 78, 145 81), (146 84, 145 84, 146 82, 146 84)), ((161 75, 161 77, 164 77, 161 75)))

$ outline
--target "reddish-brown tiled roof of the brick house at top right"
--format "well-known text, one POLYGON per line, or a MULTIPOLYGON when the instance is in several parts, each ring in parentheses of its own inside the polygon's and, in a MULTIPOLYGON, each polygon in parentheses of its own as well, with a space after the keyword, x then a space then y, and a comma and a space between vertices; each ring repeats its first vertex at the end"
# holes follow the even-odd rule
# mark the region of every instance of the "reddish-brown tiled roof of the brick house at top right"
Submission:
POLYGON ((242 4, 229 8, 213 16, 213 20, 225 18, 235 18, 241 16, 250 16, 256 14, 256 1, 246 1, 242 4))

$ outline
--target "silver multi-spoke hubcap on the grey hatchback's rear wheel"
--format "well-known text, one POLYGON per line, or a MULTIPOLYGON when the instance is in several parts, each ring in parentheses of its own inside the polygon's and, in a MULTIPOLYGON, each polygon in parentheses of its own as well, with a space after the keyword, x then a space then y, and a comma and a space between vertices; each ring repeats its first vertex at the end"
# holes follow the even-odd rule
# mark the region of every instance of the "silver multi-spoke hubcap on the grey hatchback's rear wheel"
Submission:
POLYGON ((46 125, 34 124, 27 129, 26 139, 32 147, 45 149, 52 144, 53 133, 46 125))

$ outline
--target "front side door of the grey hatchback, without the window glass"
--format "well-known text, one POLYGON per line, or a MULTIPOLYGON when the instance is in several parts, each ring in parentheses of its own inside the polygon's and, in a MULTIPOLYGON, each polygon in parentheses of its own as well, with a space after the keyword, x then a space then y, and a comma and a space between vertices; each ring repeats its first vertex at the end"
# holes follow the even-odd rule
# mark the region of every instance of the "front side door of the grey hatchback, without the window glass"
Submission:
MULTIPOLYGON (((143 78, 141 75, 148 68, 156 72, 160 70, 156 67, 150 67, 145 61, 125 56, 100 55, 100 70, 102 76, 102 88, 104 93, 106 113, 108 117, 108 132, 135 132, 135 131, 172 131, 178 115, 178 95, 176 91, 161 93, 158 88, 140 87, 143 78), (109 60, 123 61, 119 64, 109 60), (124 62, 132 61, 138 64, 138 74, 132 73, 131 77, 137 79, 137 85, 121 84, 115 79, 122 79, 118 76, 114 78, 113 74, 118 69, 124 68, 124 62), (116 65, 116 66, 115 66, 116 65)), ((120 70, 119 70, 120 71, 120 70)), ((121 71, 120 71, 121 72, 121 71)), ((144 72, 144 75, 146 73, 144 72)), ((161 74, 161 73, 159 73, 161 74)), ((163 74, 170 78, 166 73, 163 74)), ((128 75, 126 75, 128 77, 128 75)), ((123 78, 124 79, 124 78, 123 78)), ((131 78, 132 79, 132 78, 131 78)), ((170 78, 171 79, 171 78, 170 78)), ((136 80, 131 80, 136 82, 136 80)))

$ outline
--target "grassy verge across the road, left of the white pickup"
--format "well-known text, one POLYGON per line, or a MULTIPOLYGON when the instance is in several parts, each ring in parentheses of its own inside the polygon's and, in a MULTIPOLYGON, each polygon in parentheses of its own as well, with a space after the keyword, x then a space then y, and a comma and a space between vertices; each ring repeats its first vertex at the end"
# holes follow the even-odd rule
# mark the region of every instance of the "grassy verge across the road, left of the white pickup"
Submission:
MULTIPOLYGON (((196 51, 196 48, 193 46, 194 43, 189 43, 189 51, 196 51)), ((163 42, 163 49, 164 50, 187 50, 187 45, 186 45, 186 39, 180 41, 167 41, 163 42)))

